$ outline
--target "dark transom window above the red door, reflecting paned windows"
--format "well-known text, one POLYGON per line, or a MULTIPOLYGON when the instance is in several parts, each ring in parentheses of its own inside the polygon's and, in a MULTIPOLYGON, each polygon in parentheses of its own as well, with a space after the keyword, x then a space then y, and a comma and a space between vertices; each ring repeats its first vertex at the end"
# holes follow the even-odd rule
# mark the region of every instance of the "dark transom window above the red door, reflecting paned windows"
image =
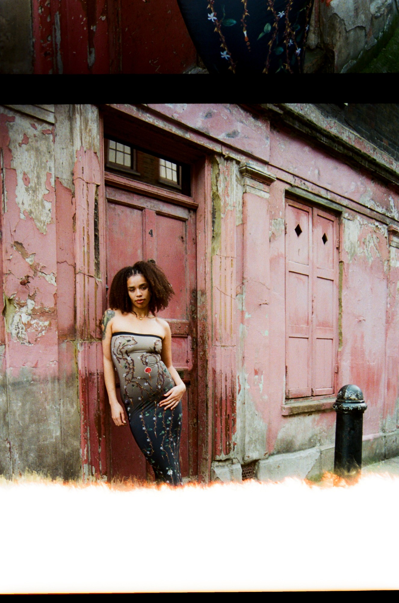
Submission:
POLYGON ((174 162, 170 157, 147 153, 123 140, 104 140, 105 169, 184 195, 191 192, 190 166, 174 162))

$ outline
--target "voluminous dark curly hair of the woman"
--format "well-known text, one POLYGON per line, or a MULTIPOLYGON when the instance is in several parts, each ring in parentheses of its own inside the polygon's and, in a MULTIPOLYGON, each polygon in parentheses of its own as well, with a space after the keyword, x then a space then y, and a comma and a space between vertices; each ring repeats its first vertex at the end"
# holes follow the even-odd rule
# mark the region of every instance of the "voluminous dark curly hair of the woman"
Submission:
POLYGON ((167 308, 175 291, 164 271, 155 264, 154 260, 136 262, 133 266, 125 266, 116 273, 110 288, 110 308, 124 313, 132 311, 132 300, 129 297, 126 282, 134 274, 141 274, 149 284, 151 292, 149 312, 155 315, 156 312, 167 308))

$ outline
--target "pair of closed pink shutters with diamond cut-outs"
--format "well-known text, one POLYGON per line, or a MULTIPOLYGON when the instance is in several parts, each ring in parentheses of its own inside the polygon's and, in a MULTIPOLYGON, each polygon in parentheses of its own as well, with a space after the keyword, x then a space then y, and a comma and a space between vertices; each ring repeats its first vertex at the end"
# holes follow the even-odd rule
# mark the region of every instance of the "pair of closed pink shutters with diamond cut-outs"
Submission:
POLYGON ((338 344, 337 218, 286 206, 286 397, 334 392, 338 344))

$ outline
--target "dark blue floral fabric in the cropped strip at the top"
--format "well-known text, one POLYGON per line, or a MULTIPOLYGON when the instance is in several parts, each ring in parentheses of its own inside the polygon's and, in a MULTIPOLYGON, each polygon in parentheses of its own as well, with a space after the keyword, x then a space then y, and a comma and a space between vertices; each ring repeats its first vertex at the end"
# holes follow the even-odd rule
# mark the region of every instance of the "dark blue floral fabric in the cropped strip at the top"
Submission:
POLYGON ((178 0, 211 74, 303 72, 314 0, 178 0))

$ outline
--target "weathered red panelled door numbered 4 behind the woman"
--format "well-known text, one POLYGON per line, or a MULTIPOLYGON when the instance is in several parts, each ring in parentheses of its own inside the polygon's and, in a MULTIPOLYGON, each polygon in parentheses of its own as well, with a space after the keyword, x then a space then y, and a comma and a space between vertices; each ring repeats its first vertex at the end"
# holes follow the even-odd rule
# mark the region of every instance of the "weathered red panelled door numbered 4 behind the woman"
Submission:
MULTIPOLYGON (((107 187, 107 280, 120 268, 154 259, 172 283, 175 295, 159 312, 172 331, 172 361, 185 382, 181 470, 197 476, 196 383, 196 213, 193 209, 123 189, 107 187)), ((119 391, 119 390, 118 390, 119 391)), ((152 469, 128 428, 110 419, 111 472, 114 477, 152 479, 152 469)))

